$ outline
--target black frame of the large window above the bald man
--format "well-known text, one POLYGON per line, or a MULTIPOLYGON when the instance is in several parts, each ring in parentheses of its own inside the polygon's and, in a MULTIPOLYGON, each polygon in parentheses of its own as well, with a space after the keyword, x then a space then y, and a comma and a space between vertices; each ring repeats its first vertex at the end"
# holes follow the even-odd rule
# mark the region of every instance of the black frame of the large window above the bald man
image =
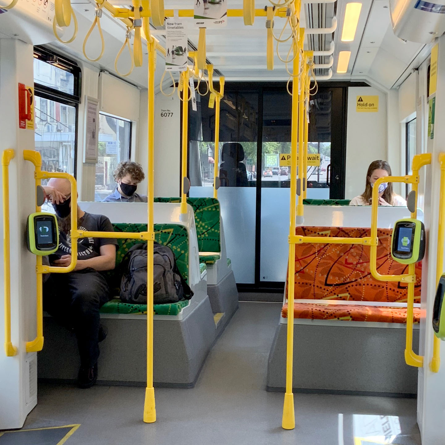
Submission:
MULTIPOLYGON (((74 94, 65 93, 47 85, 41 85, 34 82, 34 95, 42 99, 53 102, 59 102, 61 105, 69 105, 75 110, 74 121, 74 171, 73 176, 77 178, 77 150, 78 150, 78 133, 79 133, 79 104, 81 103, 82 90, 82 71, 76 62, 67 59, 65 56, 54 53, 41 46, 34 47, 34 58, 48 63, 49 65, 57 65, 57 68, 63 69, 74 76, 74 94)), ((47 119, 49 122, 49 120, 47 119)))

